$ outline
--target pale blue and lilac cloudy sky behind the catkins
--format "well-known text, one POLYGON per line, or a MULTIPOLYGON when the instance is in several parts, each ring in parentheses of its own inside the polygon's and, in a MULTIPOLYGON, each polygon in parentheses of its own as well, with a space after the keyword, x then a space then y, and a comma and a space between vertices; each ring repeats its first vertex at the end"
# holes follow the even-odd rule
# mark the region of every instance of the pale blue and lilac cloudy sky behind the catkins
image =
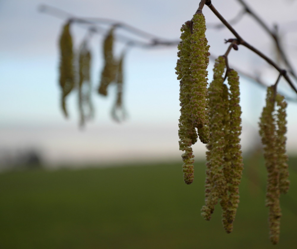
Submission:
MULTIPOLYGON (((241 10, 236 0, 212 1, 217 10, 230 20, 241 10)), ((297 1, 248 1, 250 7, 272 27, 277 24, 285 52, 297 69, 297 1), (277 6, 277 8, 276 8, 277 6)), ((95 118, 83 129, 78 126, 77 94, 72 93, 67 104, 70 116, 65 119, 60 107, 59 34, 65 18, 38 11, 41 4, 56 7, 78 17, 110 18, 143 31, 178 40, 181 25, 192 18, 199 1, 139 1, 139 0, 2 0, 0 1, 0 156, 33 149, 40 152, 47 164, 71 163, 113 164, 129 161, 181 160, 178 150, 179 82, 175 66, 177 48, 132 48, 124 65, 124 106, 128 118, 115 123, 110 108, 115 89, 110 96, 96 93, 102 69, 102 34, 92 38, 92 84, 95 118)), ((207 32, 212 56, 224 54, 233 38, 225 28, 211 28, 219 20, 205 7, 207 32)), ((107 26, 102 26, 105 28, 107 26)), ((269 57, 276 59, 270 37, 249 16, 244 15, 234 25, 247 42, 269 57)), ((72 28, 75 46, 86 29, 72 28)), ((122 44, 116 42, 119 51, 122 44)), ((242 72, 260 75, 268 85, 275 83, 277 72, 244 47, 231 51, 229 63, 242 72)), ((208 71, 212 77, 213 61, 208 71)), ((242 75, 241 75, 242 76, 242 75)), ((258 118, 265 99, 265 89, 241 77, 242 146, 244 151, 259 143, 258 118)), ((297 83, 295 82, 295 85, 297 83)), ((284 81, 279 87, 297 99, 284 81)), ((297 104, 289 102, 288 143, 290 153, 297 148, 297 104)), ((194 155, 203 157, 205 146, 193 146, 194 155)))

